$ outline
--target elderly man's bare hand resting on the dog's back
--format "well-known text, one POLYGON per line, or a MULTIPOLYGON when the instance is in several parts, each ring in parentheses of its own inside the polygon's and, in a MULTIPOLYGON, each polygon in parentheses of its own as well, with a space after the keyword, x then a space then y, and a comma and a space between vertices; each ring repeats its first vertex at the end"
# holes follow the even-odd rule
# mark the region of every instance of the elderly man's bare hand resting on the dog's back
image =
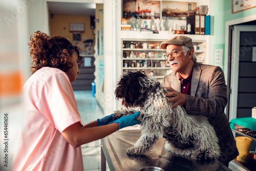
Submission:
POLYGON ((169 93, 165 93, 166 97, 171 97, 167 99, 167 102, 174 102, 172 107, 175 108, 177 105, 186 105, 186 96, 180 92, 177 92, 173 88, 165 87, 169 91, 169 93))

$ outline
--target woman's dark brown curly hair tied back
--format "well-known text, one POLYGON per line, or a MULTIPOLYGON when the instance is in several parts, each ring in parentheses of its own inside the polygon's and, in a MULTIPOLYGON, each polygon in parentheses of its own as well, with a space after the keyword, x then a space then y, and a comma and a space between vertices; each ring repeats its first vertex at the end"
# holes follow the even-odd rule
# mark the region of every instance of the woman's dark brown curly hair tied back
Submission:
POLYGON ((42 67, 58 68, 63 72, 67 72, 73 67, 69 61, 69 56, 75 51, 78 56, 78 67, 82 63, 82 57, 76 46, 63 37, 50 37, 46 33, 40 31, 34 32, 29 41, 30 56, 32 59, 32 67, 30 70, 34 74, 42 67), (63 53, 64 49, 68 50, 68 54, 63 53))

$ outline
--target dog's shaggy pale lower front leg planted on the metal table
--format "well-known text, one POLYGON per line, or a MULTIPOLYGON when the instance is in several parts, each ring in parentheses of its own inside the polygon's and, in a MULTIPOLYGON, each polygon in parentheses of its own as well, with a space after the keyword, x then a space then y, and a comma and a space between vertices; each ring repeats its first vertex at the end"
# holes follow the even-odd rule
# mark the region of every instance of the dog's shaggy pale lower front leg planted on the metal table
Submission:
POLYGON ((153 148, 157 140, 156 136, 148 137, 142 134, 134 146, 127 148, 126 154, 128 156, 143 156, 153 148))

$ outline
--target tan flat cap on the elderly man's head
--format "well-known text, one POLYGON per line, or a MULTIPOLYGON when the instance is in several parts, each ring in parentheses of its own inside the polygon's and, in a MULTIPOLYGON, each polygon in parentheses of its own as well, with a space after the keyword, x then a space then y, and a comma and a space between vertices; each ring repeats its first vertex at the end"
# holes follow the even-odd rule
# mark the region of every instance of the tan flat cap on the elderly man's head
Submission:
POLYGON ((194 51, 194 46, 192 43, 192 39, 187 37, 187 36, 175 36, 172 37, 166 41, 163 41, 160 45, 161 49, 166 49, 167 45, 181 45, 181 46, 186 46, 189 49, 193 49, 194 51))

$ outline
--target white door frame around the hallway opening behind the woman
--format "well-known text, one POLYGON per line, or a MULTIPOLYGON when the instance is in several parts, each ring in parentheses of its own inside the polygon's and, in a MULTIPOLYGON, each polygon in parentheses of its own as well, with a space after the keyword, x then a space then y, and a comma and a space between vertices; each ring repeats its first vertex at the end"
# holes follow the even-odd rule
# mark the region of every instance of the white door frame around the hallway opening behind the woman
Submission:
POLYGON ((49 15, 47 2, 72 2, 103 4, 103 55, 104 55, 104 115, 109 115, 116 110, 118 101, 115 99, 114 90, 120 74, 116 74, 117 58, 121 48, 120 25, 122 4, 116 0, 42 0, 42 30, 49 33, 49 15), (115 25, 114 25, 114 24, 115 25), (117 77, 118 75, 118 77, 117 77))

